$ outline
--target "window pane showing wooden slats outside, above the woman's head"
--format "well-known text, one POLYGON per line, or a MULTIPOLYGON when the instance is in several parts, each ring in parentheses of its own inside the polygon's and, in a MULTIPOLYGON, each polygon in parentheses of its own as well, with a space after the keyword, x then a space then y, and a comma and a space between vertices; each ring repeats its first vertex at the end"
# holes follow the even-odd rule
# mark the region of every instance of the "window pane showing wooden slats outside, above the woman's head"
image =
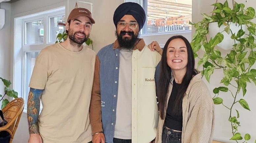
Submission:
POLYGON ((192 0, 145 0, 144 6, 147 24, 143 34, 191 30, 192 0))

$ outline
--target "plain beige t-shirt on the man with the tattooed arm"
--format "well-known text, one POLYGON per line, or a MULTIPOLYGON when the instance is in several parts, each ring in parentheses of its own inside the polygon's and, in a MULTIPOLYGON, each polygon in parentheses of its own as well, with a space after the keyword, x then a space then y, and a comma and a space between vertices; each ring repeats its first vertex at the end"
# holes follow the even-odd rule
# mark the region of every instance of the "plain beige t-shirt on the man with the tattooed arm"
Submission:
POLYGON ((39 132, 43 143, 87 143, 92 140, 89 105, 96 54, 59 43, 44 48, 36 59, 29 87, 44 89, 39 132))

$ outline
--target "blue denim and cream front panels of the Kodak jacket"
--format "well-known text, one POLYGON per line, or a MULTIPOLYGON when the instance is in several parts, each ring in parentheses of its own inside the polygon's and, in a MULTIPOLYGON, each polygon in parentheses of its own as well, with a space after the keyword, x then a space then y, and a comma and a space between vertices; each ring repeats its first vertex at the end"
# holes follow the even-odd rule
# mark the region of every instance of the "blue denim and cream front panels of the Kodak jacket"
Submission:
MULTIPOLYGON (((116 41, 117 42, 117 41, 116 41)), ((132 52, 132 142, 148 143, 156 137, 158 108, 155 70, 161 55, 145 46, 132 52)), ((119 81, 120 49, 113 44, 100 49, 102 126, 107 143, 113 143, 119 81)), ((125 130, 125 129, 124 129, 125 130)))

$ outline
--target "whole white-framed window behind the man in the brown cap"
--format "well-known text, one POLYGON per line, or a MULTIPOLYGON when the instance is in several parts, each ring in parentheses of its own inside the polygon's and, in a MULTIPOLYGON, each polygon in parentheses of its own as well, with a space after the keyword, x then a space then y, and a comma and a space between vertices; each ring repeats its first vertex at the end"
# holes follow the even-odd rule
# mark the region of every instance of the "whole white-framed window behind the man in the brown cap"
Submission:
POLYGON ((59 33, 66 31, 64 24, 65 7, 15 18, 15 35, 19 38, 14 39, 14 89, 25 100, 24 112, 36 58, 44 47, 55 43, 59 33))

